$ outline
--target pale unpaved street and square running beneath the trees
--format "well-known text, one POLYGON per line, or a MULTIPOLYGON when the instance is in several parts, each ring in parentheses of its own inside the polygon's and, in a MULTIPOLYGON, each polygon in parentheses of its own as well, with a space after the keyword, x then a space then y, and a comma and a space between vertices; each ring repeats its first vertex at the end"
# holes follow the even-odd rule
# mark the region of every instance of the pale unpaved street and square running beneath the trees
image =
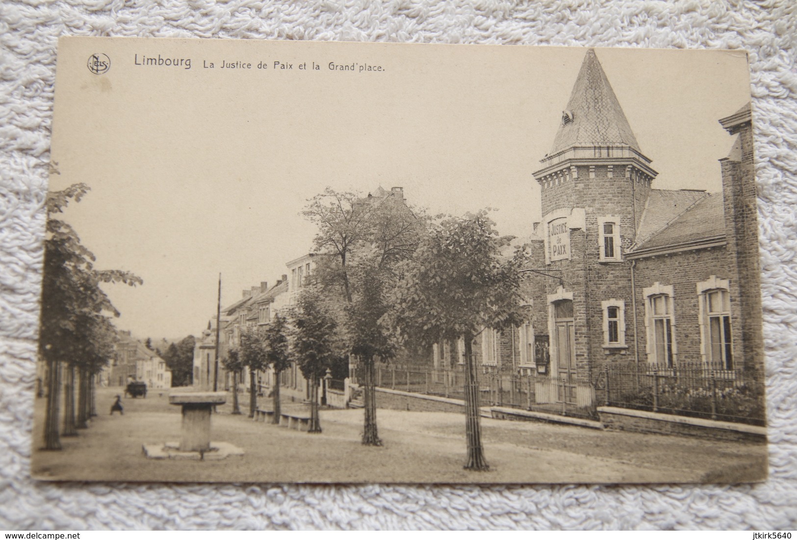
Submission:
MULTIPOLYGON (((77 437, 62 437, 60 452, 37 451, 33 477, 59 480, 163 482, 399 482, 427 483, 662 483, 727 482, 766 470, 766 444, 697 437, 599 431, 569 425, 482 419, 489 472, 463 470, 465 417, 379 409, 383 447, 360 444, 362 409, 322 410, 324 432, 310 434, 230 414, 231 397, 212 419, 212 440, 245 450, 221 461, 147 460, 142 444, 179 440, 180 409, 167 391, 127 398, 124 416, 109 410, 120 388, 97 390, 97 412, 77 437)), ((300 404, 285 404, 301 407, 300 404)), ((37 426, 45 400, 36 400, 37 426)))

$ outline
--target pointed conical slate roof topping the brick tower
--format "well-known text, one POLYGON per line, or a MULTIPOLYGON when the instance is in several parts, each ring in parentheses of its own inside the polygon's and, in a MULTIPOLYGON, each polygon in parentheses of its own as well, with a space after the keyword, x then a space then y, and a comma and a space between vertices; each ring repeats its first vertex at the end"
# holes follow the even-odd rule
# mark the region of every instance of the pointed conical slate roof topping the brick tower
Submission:
POLYGON ((627 144, 640 151, 595 49, 587 50, 565 112, 572 120, 559 127, 550 154, 573 146, 607 144, 627 144))

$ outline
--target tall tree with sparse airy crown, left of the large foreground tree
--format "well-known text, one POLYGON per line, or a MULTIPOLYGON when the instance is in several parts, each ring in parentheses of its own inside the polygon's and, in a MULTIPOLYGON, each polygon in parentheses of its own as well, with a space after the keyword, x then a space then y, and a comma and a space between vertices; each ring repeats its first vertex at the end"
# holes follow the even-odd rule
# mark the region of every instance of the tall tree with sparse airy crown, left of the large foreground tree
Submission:
POLYGON ((316 250, 328 255, 318 260, 315 280, 328 294, 340 292, 347 304, 339 311, 344 315, 339 324, 362 375, 363 444, 379 446, 374 362, 395 354, 379 323, 387 310, 383 293, 395 283, 396 265, 418 247, 427 217, 392 193, 366 198, 329 187, 310 200, 303 214, 318 228, 316 250))

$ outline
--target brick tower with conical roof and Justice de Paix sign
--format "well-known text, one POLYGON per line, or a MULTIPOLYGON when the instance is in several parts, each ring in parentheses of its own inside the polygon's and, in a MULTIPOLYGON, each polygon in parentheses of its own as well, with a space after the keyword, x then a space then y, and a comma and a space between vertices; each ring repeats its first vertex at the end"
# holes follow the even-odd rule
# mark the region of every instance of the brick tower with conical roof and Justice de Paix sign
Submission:
POLYGON ((564 400, 576 404, 594 401, 591 384, 603 362, 635 357, 637 344, 623 330, 627 320, 630 332, 634 320, 628 255, 657 174, 598 54, 586 51, 570 98, 562 103, 551 151, 534 173, 542 206, 535 227, 542 252, 535 262, 547 276, 540 284, 547 310, 535 310, 548 313, 550 374, 575 386, 564 400), (614 334, 610 321, 616 323, 614 334))

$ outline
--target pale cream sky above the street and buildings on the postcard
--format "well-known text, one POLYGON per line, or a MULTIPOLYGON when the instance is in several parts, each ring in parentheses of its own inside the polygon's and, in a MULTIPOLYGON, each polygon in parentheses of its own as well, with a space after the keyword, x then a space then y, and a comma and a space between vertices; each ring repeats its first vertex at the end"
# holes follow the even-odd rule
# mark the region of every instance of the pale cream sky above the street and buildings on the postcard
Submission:
MULTIPOLYGON (((407 202, 431 213, 490 207, 502 234, 528 236, 540 220, 532 173, 551 150, 585 52, 61 41, 51 154, 60 174, 50 189, 87 183, 92 191, 65 219, 97 268, 143 278, 105 288, 122 313, 117 327, 139 338, 199 335, 215 315, 219 272, 228 305, 312 250, 314 229, 300 212, 327 186, 363 195, 402 186, 407 202), (86 58, 100 50, 111 68, 96 75, 86 58), (190 58, 191 68, 136 65, 159 56, 190 58)), ((732 138, 717 120, 750 99, 744 53, 596 53, 658 170, 654 188, 720 190, 717 160, 732 138)))

